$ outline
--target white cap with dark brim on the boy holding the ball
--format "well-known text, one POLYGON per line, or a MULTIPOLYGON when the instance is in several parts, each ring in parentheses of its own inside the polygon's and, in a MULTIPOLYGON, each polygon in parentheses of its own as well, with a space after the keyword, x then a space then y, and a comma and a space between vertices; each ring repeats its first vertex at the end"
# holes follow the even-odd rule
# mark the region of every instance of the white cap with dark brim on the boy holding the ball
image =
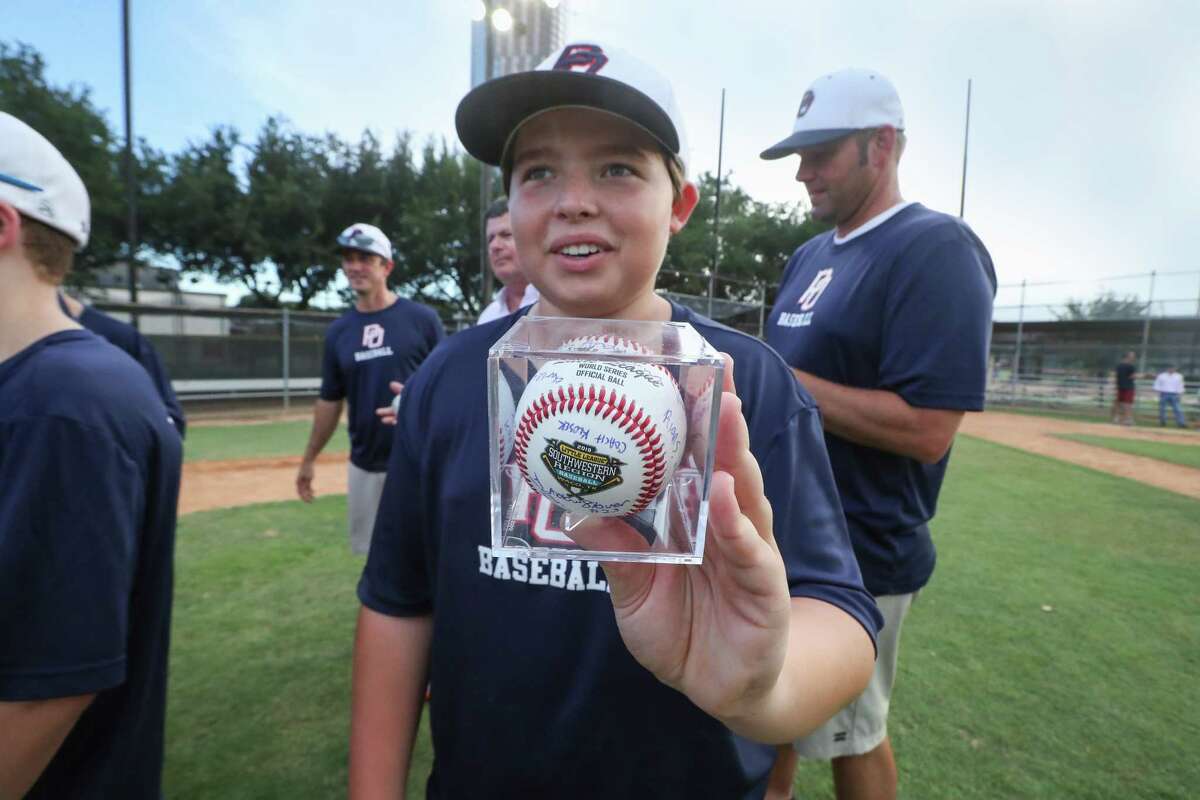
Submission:
POLYGON ((596 40, 571 42, 534 70, 475 86, 458 103, 455 127, 467 152, 498 167, 517 130, 556 108, 593 108, 632 122, 686 174, 688 136, 671 82, 626 50, 596 40))

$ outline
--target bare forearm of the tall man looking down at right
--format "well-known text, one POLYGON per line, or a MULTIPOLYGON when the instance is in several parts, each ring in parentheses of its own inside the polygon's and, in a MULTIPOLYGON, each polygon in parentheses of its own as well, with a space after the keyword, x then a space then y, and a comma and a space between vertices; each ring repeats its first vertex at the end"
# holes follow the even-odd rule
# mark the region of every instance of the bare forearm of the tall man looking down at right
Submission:
POLYGON ((856 389, 800 369, 792 372, 821 407, 826 431, 923 464, 946 456, 962 422, 959 410, 916 408, 895 392, 856 389))

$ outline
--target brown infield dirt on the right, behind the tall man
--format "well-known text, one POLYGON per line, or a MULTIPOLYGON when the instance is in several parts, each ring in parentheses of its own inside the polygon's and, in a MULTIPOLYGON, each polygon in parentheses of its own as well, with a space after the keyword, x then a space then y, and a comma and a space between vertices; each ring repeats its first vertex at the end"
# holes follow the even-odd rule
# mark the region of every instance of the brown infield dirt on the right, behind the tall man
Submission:
POLYGON ((961 432, 1200 499, 1198 469, 1055 438, 1055 434, 1061 433, 1090 433, 1099 437, 1200 446, 1200 435, 1194 432, 1172 428, 1123 428, 1103 422, 1073 422, 1001 411, 967 414, 961 432))

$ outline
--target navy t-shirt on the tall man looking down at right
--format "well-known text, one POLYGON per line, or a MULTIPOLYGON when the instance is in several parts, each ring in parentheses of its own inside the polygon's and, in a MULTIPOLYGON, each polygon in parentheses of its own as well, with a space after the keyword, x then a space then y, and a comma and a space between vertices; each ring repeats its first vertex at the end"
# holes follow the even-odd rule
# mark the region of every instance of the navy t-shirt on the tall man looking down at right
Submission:
MULTIPOLYGON (((767 343, 798 369, 882 389, 918 408, 982 411, 996 272, 955 217, 912 204, 841 245, 834 231, 787 263, 767 343)), ((929 521, 949 453, 936 464, 826 434, 866 588, 907 594, 928 583, 929 521)))

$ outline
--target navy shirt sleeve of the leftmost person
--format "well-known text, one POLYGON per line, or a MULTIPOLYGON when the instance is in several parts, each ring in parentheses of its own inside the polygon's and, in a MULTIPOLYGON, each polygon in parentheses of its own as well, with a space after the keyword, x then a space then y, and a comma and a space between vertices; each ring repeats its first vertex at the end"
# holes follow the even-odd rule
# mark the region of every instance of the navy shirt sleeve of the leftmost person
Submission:
POLYGON ((137 464, 104 433, 44 417, 6 437, 0 486, 0 699, 122 684, 145 507, 137 464))

